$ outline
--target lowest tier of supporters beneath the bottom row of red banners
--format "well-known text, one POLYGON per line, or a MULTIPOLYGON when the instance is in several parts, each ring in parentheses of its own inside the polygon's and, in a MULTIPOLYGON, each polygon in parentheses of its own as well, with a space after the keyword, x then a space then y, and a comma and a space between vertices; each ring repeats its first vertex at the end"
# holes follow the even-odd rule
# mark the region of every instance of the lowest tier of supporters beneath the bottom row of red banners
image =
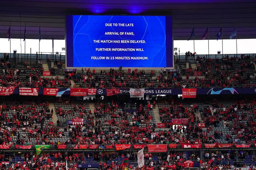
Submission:
MULTIPOLYGON (((138 168, 137 155, 132 153, 61 153, 61 152, 43 152, 39 156, 31 153, 22 153, 18 156, 14 154, 2 153, 1 160, 4 162, 10 162, 10 164, 0 164, 1 169, 22 169, 22 170, 40 170, 40 169, 54 169, 64 170, 66 166, 69 170, 79 169, 78 164, 90 165, 100 170, 141 170, 138 168), (128 163, 123 164, 123 160, 128 158, 128 163)), ((208 152, 200 158, 198 153, 186 153, 186 152, 173 152, 170 154, 159 153, 153 154, 144 152, 144 167, 147 170, 180 170, 182 168, 200 167, 204 170, 214 169, 234 169, 253 168, 255 164, 255 156, 250 155, 248 152, 235 152, 228 151, 220 153, 213 151, 210 156, 208 152), (247 164, 246 164, 247 163, 247 164)))

